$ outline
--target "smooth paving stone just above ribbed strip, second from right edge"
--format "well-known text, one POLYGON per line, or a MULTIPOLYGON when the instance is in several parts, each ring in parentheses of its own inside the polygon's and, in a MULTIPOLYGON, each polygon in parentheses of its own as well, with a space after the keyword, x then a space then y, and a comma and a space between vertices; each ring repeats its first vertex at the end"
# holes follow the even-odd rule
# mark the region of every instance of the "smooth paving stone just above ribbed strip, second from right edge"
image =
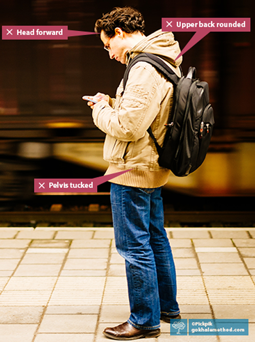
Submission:
POLYGON ((215 264, 200 264, 204 276, 247 276, 247 271, 243 264, 239 263, 215 263, 215 264))

